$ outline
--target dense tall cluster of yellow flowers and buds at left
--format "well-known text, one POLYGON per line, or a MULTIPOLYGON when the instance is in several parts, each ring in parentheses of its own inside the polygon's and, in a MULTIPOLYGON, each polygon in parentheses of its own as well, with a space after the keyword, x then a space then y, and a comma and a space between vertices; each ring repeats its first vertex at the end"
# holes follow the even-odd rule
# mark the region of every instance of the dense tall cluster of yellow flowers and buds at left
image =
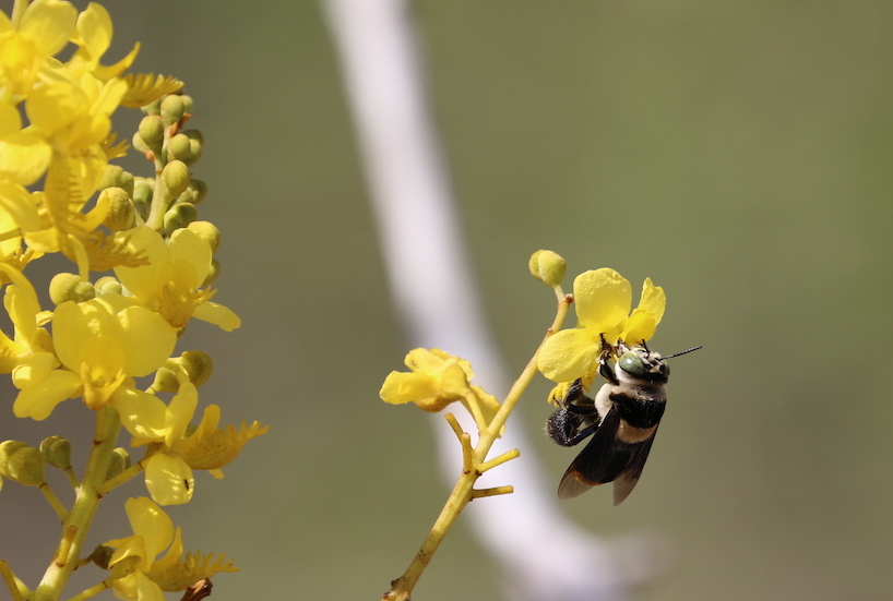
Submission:
MULTIPOLYGON (((158 599, 162 589, 183 590, 234 570, 213 554, 180 561, 180 530, 175 537, 158 505, 189 502, 193 470, 222 478, 221 468, 266 432, 257 422, 219 428, 216 405, 193 424, 212 362, 197 350, 175 357, 175 349, 193 317, 226 332, 240 326, 235 312, 211 300, 219 232, 198 219, 207 188, 190 169, 203 137, 186 128, 193 106, 182 82, 124 74, 139 44, 118 62, 103 63, 111 36, 111 19, 97 3, 79 12, 64 0, 16 0, 11 15, 0 12, 0 285, 13 326, 11 335, 0 332, 0 373, 11 374, 19 389, 17 418, 46 420, 67 399, 80 399, 96 416, 80 479, 59 458, 71 445, 58 436, 39 450, 17 441, 0 445, 0 477, 39 486, 63 530, 78 532, 60 544, 66 556, 48 568, 40 599, 58 599, 83 563, 99 500, 142 472, 152 498, 127 502, 134 536, 108 543, 117 551, 103 566, 111 569, 107 585, 123 599, 158 599), (132 142, 154 177, 111 164, 128 149, 112 133, 120 107, 145 113, 132 142), (52 278, 52 305, 43 306, 39 285, 25 272, 56 253, 72 262, 73 273, 52 278), (146 377, 151 384, 141 384, 146 377), (115 448, 123 432, 145 452, 132 465, 128 452, 115 448), (46 464, 66 470, 78 491, 73 507, 44 481, 46 464)), ((13 598, 29 597, 11 573, 2 576, 17 582, 13 598)))

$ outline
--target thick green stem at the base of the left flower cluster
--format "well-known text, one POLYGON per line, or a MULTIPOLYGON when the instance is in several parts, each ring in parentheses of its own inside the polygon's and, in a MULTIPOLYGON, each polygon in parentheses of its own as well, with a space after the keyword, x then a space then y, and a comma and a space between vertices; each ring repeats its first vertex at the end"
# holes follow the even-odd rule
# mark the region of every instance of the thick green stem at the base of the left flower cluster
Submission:
POLYGON ((120 431, 121 420, 114 408, 107 406, 96 412, 93 450, 78 488, 74 506, 62 522, 62 536, 52 563, 29 601, 58 601, 71 573, 78 567, 81 550, 102 500, 98 490, 106 480, 111 452, 120 431))

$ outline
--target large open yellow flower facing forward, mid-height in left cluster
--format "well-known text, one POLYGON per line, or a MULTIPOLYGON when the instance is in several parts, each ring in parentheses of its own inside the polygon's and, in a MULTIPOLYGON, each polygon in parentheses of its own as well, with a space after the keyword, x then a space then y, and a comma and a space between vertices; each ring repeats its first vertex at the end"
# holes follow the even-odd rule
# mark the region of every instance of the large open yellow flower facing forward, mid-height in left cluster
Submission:
POLYGON ((22 365, 13 372, 20 388, 19 418, 44 420, 62 400, 83 396, 91 409, 119 397, 143 394, 133 377, 148 375, 170 357, 177 333, 157 313, 120 295, 56 308, 52 341, 60 369, 22 365))

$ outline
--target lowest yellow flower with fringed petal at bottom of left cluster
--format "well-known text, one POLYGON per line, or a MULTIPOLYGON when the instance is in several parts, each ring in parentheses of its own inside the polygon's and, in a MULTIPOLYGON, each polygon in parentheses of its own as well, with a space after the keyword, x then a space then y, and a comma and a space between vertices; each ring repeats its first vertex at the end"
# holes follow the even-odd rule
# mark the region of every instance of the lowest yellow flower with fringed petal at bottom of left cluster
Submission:
POLYGON ((126 574, 115 580, 115 596, 136 601, 165 601, 163 591, 181 591, 218 572, 237 572, 226 555, 187 553, 182 532, 152 500, 144 496, 124 503, 133 536, 106 542, 115 549, 109 568, 126 574), (167 550, 163 557, 158 555, 167 550))

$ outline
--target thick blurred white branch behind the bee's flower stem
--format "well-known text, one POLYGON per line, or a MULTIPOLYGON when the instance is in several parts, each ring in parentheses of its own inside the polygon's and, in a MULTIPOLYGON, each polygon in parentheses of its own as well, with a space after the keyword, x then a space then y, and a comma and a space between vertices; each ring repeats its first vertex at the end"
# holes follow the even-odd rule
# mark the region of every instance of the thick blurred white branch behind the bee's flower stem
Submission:
MULTIPOLYGON (((393 298, 410 348, 438 347, 468 359, 475 383, 504 396, 505 370, 481 316, 428 112, 408 3, 323 0, 323 7, 341 57, 393 298)), ((527 257, 517 260, 524 263, 527 257)), ((537 406, 545 418, 546 407, 537 406)), ((624 599, 630 585, 659 570, 654 541, 628 536, 606 542, 569 522, 552 491, 558 474, 547 482, 517 421, 510 421, 491 456, 519 448, 521 458, 481 482, 512 484, 515 493, 481 500, 466 509, 475 533, 504 569, 507 597, 624 599)), ((476 431, 469 419, 462 424, 476 431)), ((459 445, 440 416, 436 430, 452 485, 460 469, 459 445)), ((407 550, 407 561, 410 553, 407 550)))

